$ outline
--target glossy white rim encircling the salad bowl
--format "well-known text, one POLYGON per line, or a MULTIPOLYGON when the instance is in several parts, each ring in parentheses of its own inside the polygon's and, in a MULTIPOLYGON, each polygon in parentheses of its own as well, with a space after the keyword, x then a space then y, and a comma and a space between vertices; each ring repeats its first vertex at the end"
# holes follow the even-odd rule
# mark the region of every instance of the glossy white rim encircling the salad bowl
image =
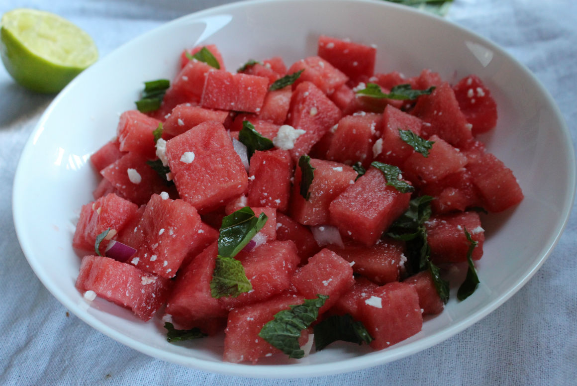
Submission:
MULTIPOLYGON (((75 85, 82 81, 82 79, 86 76, 89 76, 90 68, 85 70, 85 74, 80 74, 80 76, 76 77, 69 85, 67 85, 50 103, 50 106, 46 108, 42 116, 40 117, 38 123, 33 129, 30 137, 28 138, 27 143, 21 153, 20 160, 18 162, 18 166, 16 169, 16 173, 14 176, 14 185, 13 185, 13 220, 14 220, 14 227, 16 228, 16 234, 18 237, 18 241, 20 242, 21 248, 24 252, 25 257, 28 260, 29 265, 35 272, 36 276, 40 279, 40 281, 44 284, 44 286, 50 291, 51 294, 54 295, 55 298, 58 299, 66 308, 68 308, 71 312, 76 314, 81 320, 85 323, 90 325, 91 327, 97 329, 98 331, 104 333, 104 335, 117 340, 126 346, 132 347, 141 353, 150 355, 151 357, 163 359, 168 362, 177 363, 179 365, 188 366, 192 368, 196 368, 199 370, 215 372, 220 374, 228 374, 234 376, 244 376, 244 377, 273 377, 275 378, 293 378, 293 377, 310 377, 310 376, 323 376, 328 374, 336 374, 336 373, 345 373, 351 372, 354 370, 369 368, 372 366, 380 365, 383 363, 395 361, 396 359, 400 359, 406 357, 408 355, 417 353, 418 351, 425 350, 426 348, 432 347, 433 345, 443 342, 451 336, 456 335, 463 329, 470 327, 477 321, 484 318, 489 313, 493 312, 496 308, 502 305, 505 301, 512 297, 521 287, 526 284, 529 279, 533 277, 535 272, 544 264, 545 260, 548 258, 550 253, 553 251, 554 247, 559 242, 559 238, 563 233, 565 226, 567 225, 569 216, 571 215, 571 208, 575 200, 575 188, 576 188, 576 179, 575 179, 575 151, 574 147, 572 146, 571 135, 567 128, 567 125, 564 121, 563 114, 559 110, 559 107, 554 102, 554 99, 550 95, 550 93, 545 89, 545 87, 541 84, 541 82, 534 76, 533 73, 530 72, 523 63, 520 63, 517 59, 515 59, 511 54, 507 53, 503 48, 498 46, 496 43, 493 43, 489 39, 484 38, 477 33, 470 31, 469 29, 463 28, 458 24, 455 24, 451 21, 445 20, 444 18, 435 16, 433 14, 428 14, 421 12, 417 9, 411 9, 407 6, 398 5, 395 3, 387 3, 387 2, 375 2, 374 0, 245 0, 241 2, 234 2, 234 3, 227 3, 224 5, 216 6, 213 8, 208 8, 204 10, 200 10, 198 12, 194 12, 182 17, 178 17, 168 23, 164 23, 159 27, 153 28, 151 31, 145 32, 137 38, 129 40, 129 42, 123 43, 121 46, 115 48, 113 51, 108 53, 106 57, 100 59, 99 62, 106 63, 110 61, 111 57, 119 51, 123 50, 126 46, 137 44, 140 40, 148 39, 148 36, 158 33, 164 29, 173 28, 173 25, 184 23, 188 21, 195 20, 197 18, 202 18, 206 16, 212 16, 213 14, 218 14, 222 12, 232 12, 233 10, 242 9, 246 6, 257 6, 261 4, 268 4, 274 2, 317 2, 317 3, 330 3, 332 6, 335 3, 366 3, 367 5, 375 7, 383 7, 383 8, 392 8, 396 9, 397 12, 402 13, 413 13, 415 16, 421 18, 431 18, 436 20, 436 23, 443 25, 443 28, 453 28, 457 29, 460 33, 464 33, 465 35, 472 36, 473 38, 479 40, 486 46, 490 47, 492 50, 496 51, 502 57, 506 58, 508 61, 513 63, 514 65, 518 66, 518 68, 523 72, 523 75, 533 83, 533 86, 536 87, 539 92, 541 92, 542 96, 546 100, 546 103, 552 107, 553 113, 555 114, 556 118, 560 123, 560 131, 562 136, 565 139, 565 143, 567 144, 568 155, 571 164, 569 165, 569 183, 567 185, 567 192, 565 192, 565 200, 563 202, 563 215, 557 220, 556 227, 552 233, 552 236, 549 237, 548 243, 546 243, 545 248, 541 250, 539 256, 541 256, 537 264, 533 265, 526 272, 524 272, 522 278, 515 282, 511 287, 508 288, 503 294, 499 297, 493 299, 487 306, 476 310, 468 317, 466 320, 460 321, 458 323, 449 325, 447 328, 443 329, 442 331, 432 333, 430 336, 426 336, 424 338, 418 339, 415 342, 411 342, 406 344, 405 346, 399 346, 387 352, 385 355, 360 355, 359 357, 354 358, 346 358, 339 360, 337 362, 329 362, 329 363, 315 363, 312 365, 309 364, 298 364, 295 365, 246 365, 246 364, 239 364, 239 363, 229 363, 229 362, 216 362, 207 359, 200 359, 200 358, 193 358, 187 357, 185 355, 176 354, 176 353, 167 353, 166 351, 159 350, 158 348, 154 348, 149 346, 148 344, 144 344, 134 340, 133 338, 129 338, 128 336, 123 335, 115 331, 113 328, 108 327, 107 324, 96 320, 95 318, 88 315, 88 313, 81 312, 78 309, 78 306, 72 301, 72 299, 68 298, 64 293, 61 293, 51 285, 51 279, 44 273, 40 264, 36 261, 35 258, 32 257, 33 253, 31 253, 30 248, 28 247, 28 243, 32 242, 29 240, 24 232, 25 223, 23 219, 23 211, 24 211, 24 202, 20 200, 20 194, 18 192, 20 189, 24 189, 24 181, 25 175, 23 173, 23 163, 21 160, 29 157, 33 151, 33 144, 36 142, 38 137, 42 134, 44 129, 44 123, 52 114, 52 111, 56 106, 58 106, 59 101, 69 92, 70 89, 74 88, 75 85), (88 75, 87 75, 88 74, 88 75), (298 372, 295 372, 295 369, 298 368, 298 372)), ((95 63, 98 65, 98 63, 95 63)), ((385 351, 380 351, 381 353, 385 353, 385 351)))

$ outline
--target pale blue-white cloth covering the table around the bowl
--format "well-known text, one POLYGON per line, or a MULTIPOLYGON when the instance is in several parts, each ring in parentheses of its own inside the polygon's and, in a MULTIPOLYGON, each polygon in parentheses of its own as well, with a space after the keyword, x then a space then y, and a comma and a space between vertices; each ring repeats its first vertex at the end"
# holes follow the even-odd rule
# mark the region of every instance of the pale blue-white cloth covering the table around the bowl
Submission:
MULTIPOLYGON (((166 21, 226 0, 3 0, 58 13, 103 57, 166 21)), ((505 48, 552 94, 577 136, 577 2, 455 0, 448 20, 505 48)), ((67 310, 29 267, 14 231, 18 158, 54 99, 16 85, 0 66, 0 384, 2 385, 574 385, 577 381, 577 216, 542 268, 504 305, 428 350, 353 373, 257 380, 184 368, 104 336, 67 310)))

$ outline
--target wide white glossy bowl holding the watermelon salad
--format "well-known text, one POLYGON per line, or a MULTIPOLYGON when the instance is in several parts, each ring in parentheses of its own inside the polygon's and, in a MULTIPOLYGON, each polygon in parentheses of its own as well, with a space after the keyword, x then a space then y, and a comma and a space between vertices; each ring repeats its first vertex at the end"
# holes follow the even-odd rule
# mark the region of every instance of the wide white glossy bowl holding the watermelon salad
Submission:
POLYGON ((14 181, 14 223, 22 249, 44 286, 70 311, 111 338, 145 354, 211 372, 252 377, 305 377, 348 372, 416 353, 469 327, 534 275, 563 230, 575 192, 575 155, 559 110, 531 73, 474 33, 410 8, 353 0, 233 3, 185 16, 118 48, 81 73, 47 108, 32 133, 14 181), (409 27, 407 27, 409 26, 409 27), (172 78, 185 47, 215 43, 228 69, 249 58, 282 55, 288 65, 316 54, 321 34, 379 47, 377 71, 413 76, 423 68, 456 81, 477 74, 499 105, 497 128, 482 139, 510 167, 525 194, 516 208, 486 216, 481 284, 425 321, 417 335, 382 351, 334 344, 300 361, 276 356, 261 365, 222 361, 222 339, 183 346, 166 342, 160 321, 74 288, 80 259, 73 219, 92 200, 91 153, 115 135, 118 115, 134 108, 142 82, 172 78))

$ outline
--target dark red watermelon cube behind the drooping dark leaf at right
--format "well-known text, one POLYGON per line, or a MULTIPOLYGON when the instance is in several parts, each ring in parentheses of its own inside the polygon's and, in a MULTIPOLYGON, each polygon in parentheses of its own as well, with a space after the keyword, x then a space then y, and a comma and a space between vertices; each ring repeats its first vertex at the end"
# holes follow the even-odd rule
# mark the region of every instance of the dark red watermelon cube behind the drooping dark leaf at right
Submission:
POLYGON ((427 241, 431 248, 434 263, 459 263, 467 261, 470 243, 465 229, 478 245, 473 249, 473 260, 483 256, 485 231, 477 212, 449 213, 431 216, 425 223, 427 241))

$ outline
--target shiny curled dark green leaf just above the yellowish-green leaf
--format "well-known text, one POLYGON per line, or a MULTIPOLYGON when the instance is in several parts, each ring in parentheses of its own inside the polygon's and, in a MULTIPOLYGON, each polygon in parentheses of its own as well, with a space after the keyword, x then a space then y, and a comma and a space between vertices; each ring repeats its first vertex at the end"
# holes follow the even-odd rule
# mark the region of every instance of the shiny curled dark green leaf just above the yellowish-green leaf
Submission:
POLYGON ((249 207, 225 216, 218 237, 218 254, 224 257, 237 256, 266 222, 267 215, 260 213, 256 217, 249 207))

